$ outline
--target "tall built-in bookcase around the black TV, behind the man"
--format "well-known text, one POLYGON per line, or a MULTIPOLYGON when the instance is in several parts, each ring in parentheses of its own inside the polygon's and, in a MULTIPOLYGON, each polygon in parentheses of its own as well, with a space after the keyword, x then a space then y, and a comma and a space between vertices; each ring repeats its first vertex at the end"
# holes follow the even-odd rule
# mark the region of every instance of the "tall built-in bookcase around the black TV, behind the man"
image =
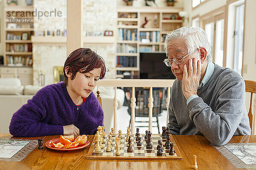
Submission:
POLYGON ((183 8, 118 7, 116 78, 123 78, 125 72, 139 78, 140 52, 164 51, 165 34, 183 26, 179 11, 183 8))

